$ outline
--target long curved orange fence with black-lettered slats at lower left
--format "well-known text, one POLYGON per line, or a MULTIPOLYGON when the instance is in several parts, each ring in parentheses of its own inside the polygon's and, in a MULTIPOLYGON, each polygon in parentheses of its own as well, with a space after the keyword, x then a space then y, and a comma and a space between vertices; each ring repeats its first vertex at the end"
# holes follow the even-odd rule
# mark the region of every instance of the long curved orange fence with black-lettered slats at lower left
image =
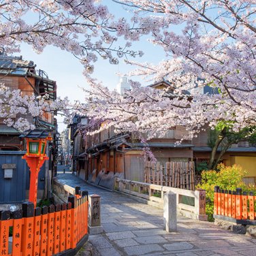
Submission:
POLYGON ((0 212, 0 255, 50 256, 74 251, 87 234, 88 192, 80 192, 69 197, 67 204, 34 209, 26 202, 22 210, 0 212))

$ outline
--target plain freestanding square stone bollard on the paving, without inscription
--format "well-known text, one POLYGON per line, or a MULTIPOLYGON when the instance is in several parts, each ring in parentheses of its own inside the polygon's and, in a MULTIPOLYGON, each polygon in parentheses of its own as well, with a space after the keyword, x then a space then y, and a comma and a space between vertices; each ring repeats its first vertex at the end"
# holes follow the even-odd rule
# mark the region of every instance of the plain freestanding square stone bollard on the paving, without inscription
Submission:
POLYGON ((167 232, 177 231, 176 194, 171 191, 163 194, 163 223, 167 232))

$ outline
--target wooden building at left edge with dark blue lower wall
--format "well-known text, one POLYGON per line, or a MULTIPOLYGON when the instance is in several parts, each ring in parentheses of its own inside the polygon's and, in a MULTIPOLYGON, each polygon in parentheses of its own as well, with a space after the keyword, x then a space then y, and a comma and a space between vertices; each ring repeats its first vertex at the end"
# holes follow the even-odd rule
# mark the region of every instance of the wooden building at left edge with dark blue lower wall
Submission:
MULTIPOLYGON (((22 57, 10 57, 4 54, 0 55, 0 83, 12 90, 19 89, 21 95, 45 95, 48 94, 49 101, 54 101, 57 97, 57 84, 50 80, 42 70, 36 70, 33 61, 25 61, 22 57)), ((57 120, 54 113, 44 113, 34 118, 33 116, 17 114, 10 116, 16 121, 20 117, 27 118, 38 129, 47 129, 55 133, 57 129, 57 120)), ((12 178, 5 178, 3 167, 0 170, 0 204, 20 203, 27 198, 29 189, 29 170, 24 160, 21 160, 25 154, 25 144, 19 138, 20 131, 12 127, 7 127, 0 119, 0 167, 5 163, 14 163, 14 172, 12 178), (12 189, 11 189, 12 188, 12 189), (27 194, 25 193, 27 191, 27 194)), ((50 182, 55 167, 54 144, 48 147, 48 157, 50 158, 41 171, 38 180, 38 196, 47 197, 50 193, 50 182)), ((4 165, 3 165, 4 166, 4 165)))

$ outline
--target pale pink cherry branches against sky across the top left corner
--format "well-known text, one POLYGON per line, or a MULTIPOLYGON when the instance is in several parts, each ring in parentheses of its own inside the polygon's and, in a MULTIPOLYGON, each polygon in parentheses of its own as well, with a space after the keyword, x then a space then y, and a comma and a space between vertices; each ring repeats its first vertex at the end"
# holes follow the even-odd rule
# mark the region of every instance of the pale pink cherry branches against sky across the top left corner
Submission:
POLYGON ((93 72, 98 57, 118 63, 117 57, 142 54, 129 50, 129 43, 115 44, 118 37, 138 39, 140 33, 124 18, 114 20, 99 1, 1 0, 0 7, 0 46, 5 52, 18 52, 21 42, 39 53, 57 46, 78 57, 86 74, 93 72))

